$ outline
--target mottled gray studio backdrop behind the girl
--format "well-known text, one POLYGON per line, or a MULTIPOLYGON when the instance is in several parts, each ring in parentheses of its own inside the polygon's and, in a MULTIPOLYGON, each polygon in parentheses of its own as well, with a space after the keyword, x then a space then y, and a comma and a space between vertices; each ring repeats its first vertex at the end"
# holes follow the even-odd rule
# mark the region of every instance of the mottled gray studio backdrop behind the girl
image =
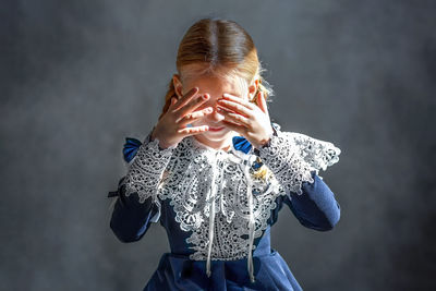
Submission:
POLYGON ((239 22, 283 130, 332 142, 330 232, 288 208, 272 245, 305 290, 435 290, 435 1, 13 1, 0 9, 1 290, 142 290, 168 251, 109 229, 125 136, 160 112, 177 46, 239 22), (433 167, 432 167, 433 166, 433 167))

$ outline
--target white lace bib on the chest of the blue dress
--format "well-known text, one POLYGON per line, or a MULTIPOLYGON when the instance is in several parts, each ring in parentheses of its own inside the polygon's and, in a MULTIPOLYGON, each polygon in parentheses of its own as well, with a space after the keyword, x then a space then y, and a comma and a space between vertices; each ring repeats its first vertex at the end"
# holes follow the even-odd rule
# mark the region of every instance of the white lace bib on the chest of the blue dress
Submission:
MULTIPOLYGON (((159 198, 170 199, 180 228, 192 231, 186 239, 195 251, 191 259, 207 258, 213 201, 216 217, 211 258, 233 260, 247 256, 250 208, 243 168, 245 162, 252 162, 256 157, 244 156, 242 159, 233 150, 226 153, 198 147, 192 137, 184 138, 173 151, 159 189, 159 198), (216 191, 211 191, 213 186, 216 191)), ((253 178, 252 183, 254 238, 259 238, 267 228, 271 210, 277 207, 276 197, 283 191, 272 179, 265 183, 263 179, 253 178)))

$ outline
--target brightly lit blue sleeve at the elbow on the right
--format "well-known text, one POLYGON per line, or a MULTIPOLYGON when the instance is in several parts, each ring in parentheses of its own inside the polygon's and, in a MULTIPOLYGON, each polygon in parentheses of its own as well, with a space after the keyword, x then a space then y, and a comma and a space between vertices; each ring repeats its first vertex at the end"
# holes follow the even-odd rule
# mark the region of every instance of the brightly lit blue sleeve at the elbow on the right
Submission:
POLYGON ((312 171, 314 183, 303 182, 301 195, 291 192, 283 202, 301 225, 318 231, 331 230, 340 218, 340 206, 327 184, 312 171))

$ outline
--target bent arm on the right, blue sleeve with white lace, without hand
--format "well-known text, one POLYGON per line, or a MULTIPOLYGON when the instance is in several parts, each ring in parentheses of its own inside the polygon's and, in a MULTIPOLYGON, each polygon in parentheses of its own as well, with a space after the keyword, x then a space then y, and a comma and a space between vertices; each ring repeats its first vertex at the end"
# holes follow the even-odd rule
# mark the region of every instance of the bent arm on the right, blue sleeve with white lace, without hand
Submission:
POLYGON ((339 154, 331 143, 279 129, 259 149, 261 159, 287 194, 284 203, 307 228, 329 230, 339 220, 339 204, 318 175, 339 160, 339 154))

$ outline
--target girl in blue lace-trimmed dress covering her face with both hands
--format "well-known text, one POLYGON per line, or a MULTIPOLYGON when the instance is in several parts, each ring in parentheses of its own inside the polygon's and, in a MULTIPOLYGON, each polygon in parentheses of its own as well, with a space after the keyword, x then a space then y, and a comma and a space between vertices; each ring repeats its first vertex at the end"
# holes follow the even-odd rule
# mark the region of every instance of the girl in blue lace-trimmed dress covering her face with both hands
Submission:
POLYGON ((311 229, 330 230, 340 207, 318 175, 339 160, 331 143, 271 123, 257 51, 237 23, 205 19, 184 35, 162 113, 129 163, 110 228, 138 241, 150 222, 170 253, 144 290, 301 290, 270 247, 288 205, 311 229))

